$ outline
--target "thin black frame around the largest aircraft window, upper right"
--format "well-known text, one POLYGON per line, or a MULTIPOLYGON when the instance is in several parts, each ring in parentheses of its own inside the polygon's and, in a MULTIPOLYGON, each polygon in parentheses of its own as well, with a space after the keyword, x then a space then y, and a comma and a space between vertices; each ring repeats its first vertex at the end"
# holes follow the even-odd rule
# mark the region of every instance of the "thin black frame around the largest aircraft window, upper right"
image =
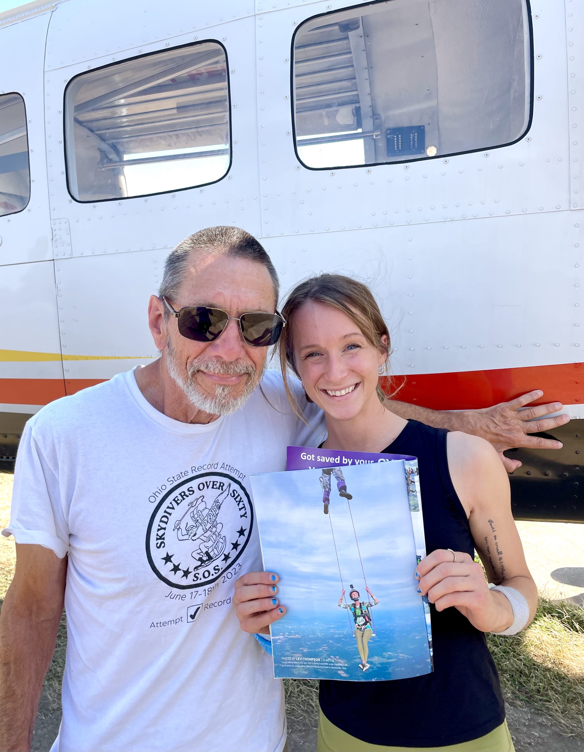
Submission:
MULTIPOLYGON (((292 114, 292 144, 294 145, 294 153, 296 156, 296 159, 298 159, 298 162, 304 167, 304 169, 312 170, 315 172, 322 172, 325 170, 355 170, 363 167, 392 167, 394 165, 407 165, 411 162, 428 162, 432 159, 448 159, 450 156, 460 156, 461 154, 475 154, 477 152, 486 151, 486 150, 494 150, 494 149, 504 149, 508 146, 513 146, 513 144, 519 143, 519 141, 522 141, 523 138, 528 134, 528 132, 531 130, 531 124, 533 123, 534 119, 534 29, 533 29, 533 17, 531 14, 531 0, 524 0, 525 2, 525 9, 527 13, 527 21, 528 21, 528 32, 529 32, 529 117, 527 124, 525 126, 525 130, 522 132, 521 135, 519 135, 518 138, 513 139, 513 141, 508 141, 506 144, 497 144, 496 146, 483 146, 477 149, 468 149, 465 151, 454 151, 449 153, 443 153, 443 154, 435 154, 434 156, 428 156, 428 154, 420 155, 420 156, 413 156, 410 155, 410 159, 404 158, 395 160, 393 162, 365 162, 362 165, 329 165, 328 167, 310 167, 309 165, 305 164, 304 161, 301 159, 300 155, 298 154, 298 143, 296 139, 296 93, 295 93, 295 40, 296 35, 298 32, 302 29, 302 27, 308 23, 309 21, 313 21, 316 18, 324 18, 326 16, 331 16, 335 13, 340 13, 341 11, 353 11, 356 8, 369 8, 371 5, 380 5, 382 3, 387 2, 387 0, 371 0, 371 2, 360 2, 356 5, 346 5, 343 8, 335 8, 334 11, 326 11, 325 13, 317 13, 313 16, 309 16, 305 18, 294 30, 294 33, 292 34, 292 42, 290 44, 290 108, 291 108, 291 114, 292 114)), ((525 89, 527 91, 527 88, 525 89)), ((300 144, 302 145, 302 144, 300 144)))

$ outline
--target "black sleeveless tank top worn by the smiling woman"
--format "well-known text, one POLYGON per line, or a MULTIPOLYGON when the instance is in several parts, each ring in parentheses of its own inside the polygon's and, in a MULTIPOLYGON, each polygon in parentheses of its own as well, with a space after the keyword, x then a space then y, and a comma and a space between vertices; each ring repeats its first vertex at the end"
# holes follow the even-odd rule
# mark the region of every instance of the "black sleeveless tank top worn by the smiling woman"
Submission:
MULTIPOLYGON (((447 433, 409 420, 383 452, 418 458, 426 553, 452 548, 474 556, 471 529, 448 470, 447 433)), ((484 633, 455 608, 430 609, 431 674, 359 684, 320 682, 320 707, 337 728, 368 744, 446 747, 501 726, 505 706, 484 633)))

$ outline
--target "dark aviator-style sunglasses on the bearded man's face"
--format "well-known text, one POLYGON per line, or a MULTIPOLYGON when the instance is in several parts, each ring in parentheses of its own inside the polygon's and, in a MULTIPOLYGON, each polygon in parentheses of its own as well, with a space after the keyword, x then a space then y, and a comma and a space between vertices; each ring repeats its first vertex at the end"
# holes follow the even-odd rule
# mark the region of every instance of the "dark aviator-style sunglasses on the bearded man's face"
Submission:
POLYGON ((241 336, 252 347, 269 347, 276 344, 286 326, 286 321, 276 311, 266 314, 253 311, 241 316, 229 316, 221 308, 207 308, 206 305, 186 305, 175 311, 166 298, 162 298, 168 310, 177 318, 178 330, 183 337, 197 342, 213 342, 223 332, 228 321, 239 321, 241 336))

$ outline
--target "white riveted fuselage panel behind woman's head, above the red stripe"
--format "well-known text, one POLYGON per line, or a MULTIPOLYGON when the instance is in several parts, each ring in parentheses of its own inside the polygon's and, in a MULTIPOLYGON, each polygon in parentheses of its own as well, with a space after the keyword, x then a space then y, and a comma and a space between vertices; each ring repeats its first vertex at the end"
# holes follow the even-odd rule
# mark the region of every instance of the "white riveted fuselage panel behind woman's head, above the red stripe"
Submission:
POLYGON ((322 235, 293 247, 266 241, 283 290, 320 271, 371 284, 390 325, 394 374, 581 359, 584 213, 331 232, 326 241, 334 253, 322 253, 322 235))

